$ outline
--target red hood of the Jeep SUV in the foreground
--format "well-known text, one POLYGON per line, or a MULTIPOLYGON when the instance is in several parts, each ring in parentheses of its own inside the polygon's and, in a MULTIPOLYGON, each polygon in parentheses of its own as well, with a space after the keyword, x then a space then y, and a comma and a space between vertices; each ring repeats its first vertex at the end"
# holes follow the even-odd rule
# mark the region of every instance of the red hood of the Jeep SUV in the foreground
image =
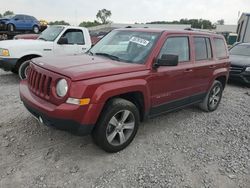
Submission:
POLYGON ((33 63, 73 81, 146 70, 142 64, 122 63, 89 55, 42 57, 33 59, 33 63))

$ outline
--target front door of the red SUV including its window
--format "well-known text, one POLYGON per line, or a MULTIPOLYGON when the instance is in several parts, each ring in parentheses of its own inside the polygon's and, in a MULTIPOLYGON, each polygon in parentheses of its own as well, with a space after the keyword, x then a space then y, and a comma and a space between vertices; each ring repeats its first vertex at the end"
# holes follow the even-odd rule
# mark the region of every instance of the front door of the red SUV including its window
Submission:
POLYGON ((158 55, 178 55, 177 66, 161 66, 152 70, 150 78, 151 111, 150 116, 185 106, 195 102, 197 98, 193 88, 195 76, 193 75, 194 61, 191 58, 189 36, 168 36, 158 55))

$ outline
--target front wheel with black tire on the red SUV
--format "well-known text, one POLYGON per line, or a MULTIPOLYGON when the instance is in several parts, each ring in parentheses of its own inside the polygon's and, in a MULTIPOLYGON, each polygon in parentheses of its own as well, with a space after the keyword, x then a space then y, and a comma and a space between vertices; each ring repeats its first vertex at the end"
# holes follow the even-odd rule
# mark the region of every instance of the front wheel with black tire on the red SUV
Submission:
POLYGON ((112 99, 105 105, 102 111, 102 114, 95 126, 95 129, 92 132, 93 140, 99 147, 101 147, 106 152, 115 153, 115 152, 121 151, 124 148, 126 148, 134 139, 137 133, 138 127, 139 127, 139 122, 140 122, 139 111, 133 103, 131 103, 130 101, 121 99, 121 98, 112 99), (115 118, 116 120, 118 120, 117 122, 119 122, 119 125, 117 126, 113 126, 111 124, 111 119, 113 119, 114 117, 117 117, 117 115, 120 115, 119 113, 123 113, 123 112, 125 113, 125 111, 130 113, 127 116, 126 120, 131 121, 134 127, 133 127, 133 130, 123 129, 119 131, 117 129, 119 127, 120 128, 123 127, 122 124, 124 124, 124 126, 128 124, 131 125, 131 122, 125 123, 126 120, 124 121, 122 120, 122 118, 125 116, 124 114, 120 116, 119 120, 115 118), (122 121, 123 123, 120 123, 122 121), (120 136, 121 132, 124 136, 123 137, 124 142, 121 141, 121 136, 120 136), (112 134, 113 135, 115 134, 116 136, 114 136, 112 141, 109 141, 110 139, 108 140, 108 138, 110 138, 112 134), (117 143, 115 143, 116 140, 117 140, 117 143), (111 142, 114 142, 114 143, 111 143, 111 142))

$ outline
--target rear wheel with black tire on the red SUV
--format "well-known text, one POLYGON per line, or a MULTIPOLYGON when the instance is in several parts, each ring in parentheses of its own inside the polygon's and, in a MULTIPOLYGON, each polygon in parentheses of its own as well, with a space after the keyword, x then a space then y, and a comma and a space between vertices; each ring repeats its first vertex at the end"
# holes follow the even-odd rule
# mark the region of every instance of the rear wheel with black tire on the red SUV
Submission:
POLYGON ((223 89, 224 88, 222 83, 218 80, 215 80, 209 92, 207 93, 205 99, 203 100, 202 103, 199 104, 200 108, 206 112, 215 111, 220 104, 223 89), (215 96, 217 92, 218 94, 215 96))

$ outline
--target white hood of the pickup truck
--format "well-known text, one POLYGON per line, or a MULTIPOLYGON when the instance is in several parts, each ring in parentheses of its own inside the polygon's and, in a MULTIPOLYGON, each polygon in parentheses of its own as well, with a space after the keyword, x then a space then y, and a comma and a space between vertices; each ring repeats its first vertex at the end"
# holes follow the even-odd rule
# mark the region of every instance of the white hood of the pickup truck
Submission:
POLYGON ((43 41, 43 40, 4 40, 4 41, 0 41, 0 48, 16 49, 16 48, 21 47, 21 48, 33 49, 36 47, 46 45, 48 43, 53 43, 53 42, 43 41))

